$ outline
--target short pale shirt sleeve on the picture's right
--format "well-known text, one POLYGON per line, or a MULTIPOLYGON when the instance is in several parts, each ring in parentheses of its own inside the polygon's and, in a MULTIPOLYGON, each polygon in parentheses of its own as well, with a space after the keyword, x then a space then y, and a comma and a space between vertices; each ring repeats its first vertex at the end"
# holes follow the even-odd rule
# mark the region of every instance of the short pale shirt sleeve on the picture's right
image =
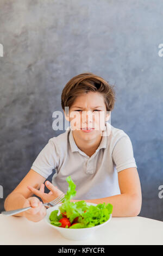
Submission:
POLYGON ((120 138, 115 144, 112 151, 112 159, 116 165, 117 172, 121 170, 136 167, 136 162, 133 153, 133 145, 128 135, 120 138))

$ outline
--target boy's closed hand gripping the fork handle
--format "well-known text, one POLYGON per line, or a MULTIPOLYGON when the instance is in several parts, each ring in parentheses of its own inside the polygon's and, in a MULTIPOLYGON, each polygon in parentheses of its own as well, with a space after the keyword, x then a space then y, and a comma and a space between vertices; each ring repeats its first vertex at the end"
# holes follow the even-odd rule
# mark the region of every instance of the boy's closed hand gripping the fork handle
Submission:
POLYGON ((32 206, 32 208, 23 212, 23 216, 26 217, 29 221, 38 222, 45 217, 46 208, 37 197, 29 197, 26 199, 23 208, 29 206, 32 206))

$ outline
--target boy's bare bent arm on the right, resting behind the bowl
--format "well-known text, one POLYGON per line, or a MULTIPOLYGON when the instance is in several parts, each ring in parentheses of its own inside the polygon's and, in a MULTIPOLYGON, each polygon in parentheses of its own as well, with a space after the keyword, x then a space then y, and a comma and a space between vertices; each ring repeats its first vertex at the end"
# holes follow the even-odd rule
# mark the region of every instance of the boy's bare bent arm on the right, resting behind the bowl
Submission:
MULTIPOLYGON (((85 200, 89 203, 110 203, 113 205, 112 217, 133 217, 140 214, 142 195, 139 174, 136 167, 118 172, 121 194, 112 197, 85 200)), ((77 202, 79 200, 72 200, 77 202)))

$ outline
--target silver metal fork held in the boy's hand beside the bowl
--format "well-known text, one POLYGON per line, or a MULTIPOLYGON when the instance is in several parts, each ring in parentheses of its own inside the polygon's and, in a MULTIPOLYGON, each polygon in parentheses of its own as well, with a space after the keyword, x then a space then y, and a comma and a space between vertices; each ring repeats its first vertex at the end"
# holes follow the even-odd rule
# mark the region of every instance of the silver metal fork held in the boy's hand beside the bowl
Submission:
MULTIPOLYGON (((55 198, 53 201, 49 202, 49 203, 44 203, 43 205, 45 205, 47 208, 55 206, 59 203, 61 203, 63 200, 65 199, 65 194, 62 193, 59 197, 55 198)), ((32 208, 32 206, 26 207, 26 208, 21 208, 21 209, 16 209, 16 210, 12 210, 12 211, 2 211, 1 214, 6 215, 6 216, 11 216, 11 215, 15 215, 15 214, 19 214, 20 212, 23 211, 27 211, 30 208, 32 208)))

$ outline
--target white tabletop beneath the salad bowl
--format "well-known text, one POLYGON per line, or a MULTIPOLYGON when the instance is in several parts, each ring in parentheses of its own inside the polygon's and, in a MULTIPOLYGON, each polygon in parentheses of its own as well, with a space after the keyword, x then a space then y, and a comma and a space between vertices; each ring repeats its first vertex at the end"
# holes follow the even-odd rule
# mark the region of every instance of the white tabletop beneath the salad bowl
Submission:
POLYGON ((143 217, 115 218, 87 240, 68 240, 44 220, 0 214, 0 245, 163 245, 163 222, 143 217))

